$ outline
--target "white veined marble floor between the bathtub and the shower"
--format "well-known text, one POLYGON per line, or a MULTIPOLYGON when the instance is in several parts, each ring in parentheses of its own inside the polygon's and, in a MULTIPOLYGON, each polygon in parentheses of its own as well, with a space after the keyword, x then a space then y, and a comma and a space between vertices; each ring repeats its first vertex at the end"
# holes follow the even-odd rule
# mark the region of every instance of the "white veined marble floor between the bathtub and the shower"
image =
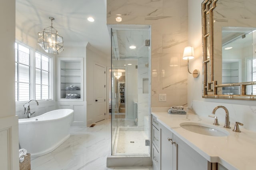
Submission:
POLYGON ((152 170, 151 167, 106 167, 111 153, 111 119, 92 128, 70 128, 70 138, 53 152, 31 160, 32 170, 152 170))

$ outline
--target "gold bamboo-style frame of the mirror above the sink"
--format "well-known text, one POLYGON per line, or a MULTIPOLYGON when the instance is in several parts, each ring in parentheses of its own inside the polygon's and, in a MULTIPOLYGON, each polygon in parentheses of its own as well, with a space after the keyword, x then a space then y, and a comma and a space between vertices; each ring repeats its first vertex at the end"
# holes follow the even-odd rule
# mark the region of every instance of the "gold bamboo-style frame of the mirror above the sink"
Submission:
POLYGON ((218 82, 214 80, 213 10, 216 7, 217 1, 218 0, 204 0, 202 2, 202 98, 256 100, 256 95, 246 94, 246 86, 255 85, 256 82, 218 84, 218 82), (207 23, 207 15, 209 16, 209 24, 207 23), (208 24, 208 29, 206 23, 208 24), (207 30, 209 30, 209 32, 207 32, 207 30), (208 44, 206 44, 207 38, 209 39, 209 48, 207 47, 208 44), (210 58, 207 57, 207 48, 209 49, 210 58), (218 88, 230 86, 240 86, 240 95, 218 94, 218 88))

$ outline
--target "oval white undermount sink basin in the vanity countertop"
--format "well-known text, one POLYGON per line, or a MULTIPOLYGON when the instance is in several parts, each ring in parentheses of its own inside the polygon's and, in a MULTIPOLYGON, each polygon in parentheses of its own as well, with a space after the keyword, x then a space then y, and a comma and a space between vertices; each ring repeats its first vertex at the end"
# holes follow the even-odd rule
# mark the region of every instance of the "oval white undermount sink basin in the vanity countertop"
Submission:
POLYGON ((208 136, 228 136, 229 133, 226 130, 218 128, 216 126, 196 123, 196 122, 183 122, 180 127, 194 133, 204 134, 208 136))

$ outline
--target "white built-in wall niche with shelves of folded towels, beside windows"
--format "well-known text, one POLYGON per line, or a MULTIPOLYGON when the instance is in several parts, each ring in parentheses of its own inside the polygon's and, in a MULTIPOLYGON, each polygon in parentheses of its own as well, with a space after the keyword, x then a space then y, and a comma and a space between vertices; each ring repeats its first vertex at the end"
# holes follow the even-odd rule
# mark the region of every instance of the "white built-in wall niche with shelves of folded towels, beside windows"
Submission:
POLYGON ((83 101, 83 58, 58 58, 58 101, 83 101))

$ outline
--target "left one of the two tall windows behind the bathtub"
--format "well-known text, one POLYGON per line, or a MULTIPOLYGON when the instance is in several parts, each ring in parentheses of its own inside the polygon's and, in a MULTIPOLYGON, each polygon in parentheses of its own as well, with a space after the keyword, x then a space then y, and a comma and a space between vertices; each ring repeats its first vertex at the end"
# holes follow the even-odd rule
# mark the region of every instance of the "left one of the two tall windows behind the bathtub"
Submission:
POLYGON ((30 50, 15 43, 15 98, 30 100, 30 50))

